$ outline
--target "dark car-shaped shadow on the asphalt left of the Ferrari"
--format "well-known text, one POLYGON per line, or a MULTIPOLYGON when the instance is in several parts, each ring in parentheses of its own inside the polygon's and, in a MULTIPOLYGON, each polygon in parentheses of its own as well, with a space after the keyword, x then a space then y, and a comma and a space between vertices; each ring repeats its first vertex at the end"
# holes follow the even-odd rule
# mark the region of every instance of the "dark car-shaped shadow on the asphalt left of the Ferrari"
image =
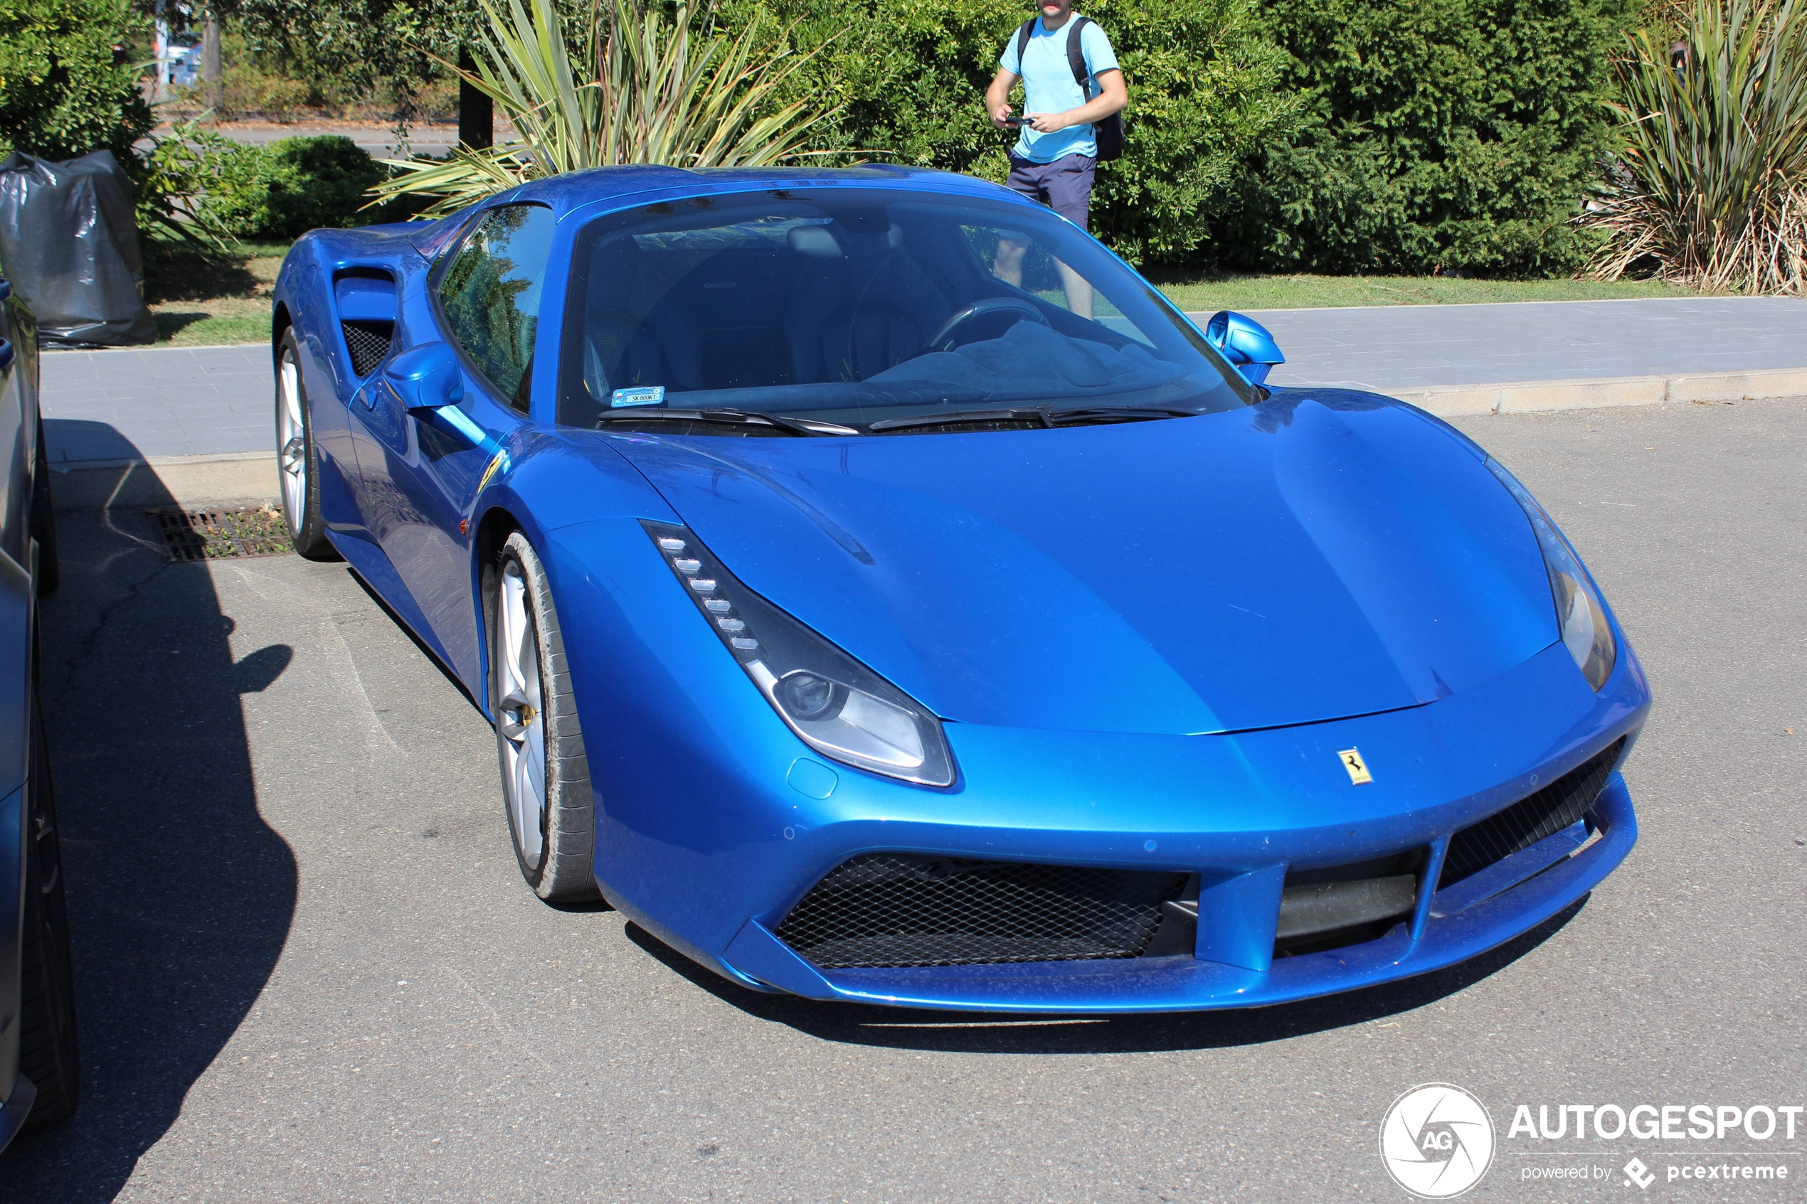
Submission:
POLYGON ((244 1020, 295 915, 295 857, 258 816, 239 704, 293 650, 235 661, 208 567, 170 561, 143 511, 56 523, 63 588, 43 610, 43 706, 81 1101, 70 1121, 20 1134, 0 1195, 110 1200, 244 1020))

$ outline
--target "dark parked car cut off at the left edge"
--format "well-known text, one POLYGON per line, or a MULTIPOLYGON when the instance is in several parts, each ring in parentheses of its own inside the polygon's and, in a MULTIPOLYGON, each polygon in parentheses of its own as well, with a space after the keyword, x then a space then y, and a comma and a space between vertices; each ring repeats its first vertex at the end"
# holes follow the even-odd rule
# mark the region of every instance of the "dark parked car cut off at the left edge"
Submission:
POLYGON ((38 332, 0 280, 0 1148, 76 1107, 69 913, 38 700, 38 597, 56 588, 38 332))

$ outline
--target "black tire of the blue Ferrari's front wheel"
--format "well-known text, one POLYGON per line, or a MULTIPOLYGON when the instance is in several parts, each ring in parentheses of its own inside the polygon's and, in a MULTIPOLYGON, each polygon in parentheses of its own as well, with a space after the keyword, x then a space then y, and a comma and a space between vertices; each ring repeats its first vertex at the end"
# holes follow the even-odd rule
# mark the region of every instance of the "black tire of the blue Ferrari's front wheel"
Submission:
MULTIPOLYGON (((546 581, 546 570, 533 545, 519 531, 508 536, 495 565, 488 574, 490 599, 490 706, 495 711, 495 751, 502 771, 502 805, 508 812, 508 834, 515 845, 515 861, 520 875, 528 879, 533 892, 548 903, 580 903, 598 899, 593 872, 596 848, 595 798, 589 783, 589 758, 584 755, 584 733, 578 727, 576 697, 571 691, 571 671, 566 664, 564 635, 558 630, 558 614, 553 608, 553 592, 546 581), (508 603, 508 579, 517 579, 524 587, 524 614, 528 637, 535 648, 540 682, 540 713, 546 747, 546 791, 538 803, 538 857, 528 854, 531 841, 522 839, 517 825, 513 792, 510 785, 511 740, 504 720, 504 659, 510 655, 504 646, 502 608, 508 603)), ((519 747, 519 746, 515 746, 519 747)), ((531 820, 529 820, 531 823, 531 820)))

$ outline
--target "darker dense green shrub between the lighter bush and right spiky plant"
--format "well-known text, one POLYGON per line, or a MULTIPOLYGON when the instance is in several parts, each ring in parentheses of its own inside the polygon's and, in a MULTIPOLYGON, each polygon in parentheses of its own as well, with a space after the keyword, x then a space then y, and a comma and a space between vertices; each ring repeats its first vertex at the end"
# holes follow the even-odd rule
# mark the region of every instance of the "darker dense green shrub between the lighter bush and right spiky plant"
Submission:
POLYGON ((1305 130, 1250 164, 1240 267, 1550 274, 1610 146, 1628 0, 1265 0, 1305 130))

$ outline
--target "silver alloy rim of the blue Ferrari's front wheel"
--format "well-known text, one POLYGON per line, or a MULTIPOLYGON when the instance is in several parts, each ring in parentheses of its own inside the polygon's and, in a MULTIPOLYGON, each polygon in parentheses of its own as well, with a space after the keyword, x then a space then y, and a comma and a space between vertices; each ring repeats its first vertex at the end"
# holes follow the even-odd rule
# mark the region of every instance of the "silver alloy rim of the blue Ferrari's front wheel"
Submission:
POLYGON ((495 607, 495 733, 502 746, 502 789, 520 861, 540 865, 546 847, 546 715, 540 695, 540 641, 528 617, 528 581, 513 560, 502 565, 495 607))

